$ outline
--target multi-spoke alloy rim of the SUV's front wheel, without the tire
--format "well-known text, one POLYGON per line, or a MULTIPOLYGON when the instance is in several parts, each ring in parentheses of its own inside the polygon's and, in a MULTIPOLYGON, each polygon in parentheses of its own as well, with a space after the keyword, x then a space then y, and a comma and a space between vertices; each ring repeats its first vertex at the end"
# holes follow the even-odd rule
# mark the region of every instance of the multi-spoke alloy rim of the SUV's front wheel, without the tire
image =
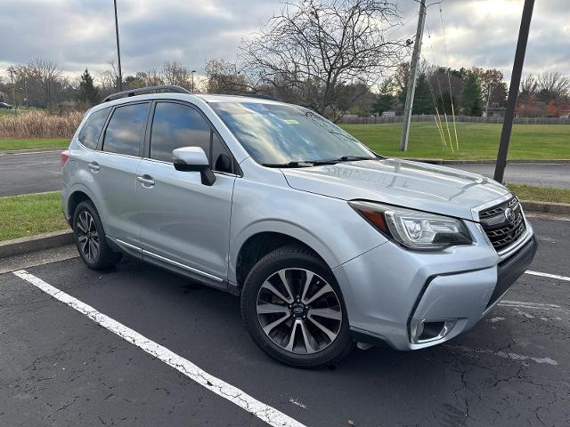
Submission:
POLYGON ((329 347, 343 320, 333 287, 305 269, 284 269, 267 278, 257 293, 256 310, 264 333, 295 354, 329 347))

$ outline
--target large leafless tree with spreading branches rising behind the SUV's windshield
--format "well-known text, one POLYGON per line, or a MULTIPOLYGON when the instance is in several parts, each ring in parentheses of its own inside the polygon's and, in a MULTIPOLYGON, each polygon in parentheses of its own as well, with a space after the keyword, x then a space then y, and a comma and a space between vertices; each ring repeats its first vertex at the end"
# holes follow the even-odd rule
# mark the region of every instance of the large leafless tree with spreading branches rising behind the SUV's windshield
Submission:
POLYGON ((243 42, 240 61, 257 89, 299 97, 305 106, 334 116, 343 85, 362 86, 355 101, 402 61, 404 41, 385 34, 399 23, 397 7, 389 1, 286 3, 243 42))

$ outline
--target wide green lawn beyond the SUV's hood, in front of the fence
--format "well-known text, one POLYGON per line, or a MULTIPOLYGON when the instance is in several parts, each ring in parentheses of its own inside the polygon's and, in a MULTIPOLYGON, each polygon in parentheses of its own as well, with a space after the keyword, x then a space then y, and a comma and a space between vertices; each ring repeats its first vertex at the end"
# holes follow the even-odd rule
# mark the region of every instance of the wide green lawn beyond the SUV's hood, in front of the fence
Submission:
MULTIPOLYGON (((436 122, 412 122, 408 151, 400 151, 401 123, 341 125, 348 133, 384 156, 446 159, 493 159, 497 157, 501 124, 457 123, 459 152, 442 149, 436 122)), ((449 136, 445 130, 446 141, 449 136)), ((453 141, 454 133, 450 128, 453 141)), ((570 125, 513 125, 509 158, 570 158, 570 125)))

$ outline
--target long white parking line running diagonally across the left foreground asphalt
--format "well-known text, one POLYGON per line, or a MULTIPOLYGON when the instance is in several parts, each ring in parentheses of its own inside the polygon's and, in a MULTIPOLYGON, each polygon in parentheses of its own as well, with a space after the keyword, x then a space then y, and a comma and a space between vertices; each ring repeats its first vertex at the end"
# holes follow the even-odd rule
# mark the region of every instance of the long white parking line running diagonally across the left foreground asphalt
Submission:
POLYGON ((118 323, 117 320, 102 314, 90 305, 77 300, 77 298, 66 294, 48 283, 45 283, 41 278, 37 278, 36 276, 29 274, 28 271, 18 270, 14 271, 13 274, 41 289, 46 294, 53 296, 56 300, 59 300, 80 313, 85 314, 85 316, 94 320, 98 325, 118 334, 121 338, 133 343, 155 358, 162 360, 168 366, 174 367, 177 371, 186 375, 191 380, 199 383, 209 391, 213 391, 218 396, 231 401, 238 407, 245 409, 249 414, 255 415, 257 418, 265 421, 265 423, 268 423, 273 427, 305 427, 304 424, 299 423, 289 417, 289 415, 285 415, 277 409, 265 405, 265 403, 252 398, 246 392, 232 386, 232 384, 225 383, 215 376, 208 374, 208 372, 200 369, 190 360, 183 359, 175 352, 168 350, 157 342, 151 341, 133 329, 118 323))

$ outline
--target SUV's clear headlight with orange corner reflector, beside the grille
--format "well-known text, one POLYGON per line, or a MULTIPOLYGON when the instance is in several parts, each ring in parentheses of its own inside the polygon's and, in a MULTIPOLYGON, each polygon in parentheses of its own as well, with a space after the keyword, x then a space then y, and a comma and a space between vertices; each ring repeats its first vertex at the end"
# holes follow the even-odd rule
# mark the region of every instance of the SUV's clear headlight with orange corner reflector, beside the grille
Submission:
POLYGON ((371 202, 348 203, 374 228, 410 249, 436 250, 473 243, 465 224, 449 216, 371 202))

